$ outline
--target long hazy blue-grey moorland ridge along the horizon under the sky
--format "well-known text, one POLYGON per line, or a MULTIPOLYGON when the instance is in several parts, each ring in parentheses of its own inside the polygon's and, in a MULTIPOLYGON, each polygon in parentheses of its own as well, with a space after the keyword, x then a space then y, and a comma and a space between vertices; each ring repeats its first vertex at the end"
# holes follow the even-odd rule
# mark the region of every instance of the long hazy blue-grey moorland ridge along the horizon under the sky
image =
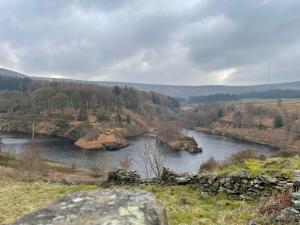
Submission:
MULTIPOLYGON (((0 75, 7 76, 26 76, 21 73, 0 68, 0 75)), ((56 78, 40 78, 29 76, 31 79, 39 80, 62 80, 56 78)), ((189 98, 192 96, 214 95, 214 94, 245 94, 249 92, 263 92, 269 90, 300 90, 300 81, 278 84, 265 85, 249 85, 249 86, 225 86, 225 85, 205 85, 205 86, 184 86, 184 85, 157 85, 157 84, 141 84, 141 83, 125 83, 125 82, 109 82, 109 81, 83 81, 65 79, 68 82, 96 83, 101 86, 120 86, 133 87, 142 91, 153 91, 169 95, 172 97, 189 98)))

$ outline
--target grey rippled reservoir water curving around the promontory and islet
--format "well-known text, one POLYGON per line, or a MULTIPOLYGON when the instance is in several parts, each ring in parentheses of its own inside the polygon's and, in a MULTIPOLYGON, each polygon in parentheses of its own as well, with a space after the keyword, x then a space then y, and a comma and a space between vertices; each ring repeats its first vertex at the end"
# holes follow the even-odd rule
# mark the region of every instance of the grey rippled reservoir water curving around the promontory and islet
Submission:
MULTIPOLYGON (((194 137, 199 146, 203 148, 202 153, 174 152, 167 149, 164 149, 162 152, 166 166, 178 173, 196 172, 201 163, 211 156, 216 159, 224 159, 242 149, 252 149, 258 154, 265 155, 274 151, 274 149, 267 146, 198 131, 189 131, 188 134, 194 137)), ((26 134, 0 134, 0 137, 5 145, 2 147, 3 151, 22 153, 26 149, 26 145, 31 143, 31 136, 26 134)), ((36 145, 42 157, 49 160, 70 165, 77 163, 81 166, 89 167, 95 165, 99 161, 99 157, 103 157, 103 154, 100 154, 101 152, 106 152, 104 155, 110 169, 117 168, 121 159, 130 158, 132 159, 133 169, 143 176, 145 176, 145 165, 141 152, 145 145, 151 145, 152 142, 155 142, 152 137, 141 137, 130 140, 129 147, 117 151, 83 151, 66 139, 48 136, 36 137, 36 145)))

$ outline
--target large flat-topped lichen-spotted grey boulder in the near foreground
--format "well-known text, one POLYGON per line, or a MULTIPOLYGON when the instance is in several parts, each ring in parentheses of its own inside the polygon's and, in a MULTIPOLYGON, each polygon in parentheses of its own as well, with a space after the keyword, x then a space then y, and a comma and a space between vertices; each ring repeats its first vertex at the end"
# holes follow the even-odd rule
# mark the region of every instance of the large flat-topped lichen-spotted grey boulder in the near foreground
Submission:
POLYGON ((139 189, 104 189, 66 195, 14 225, 167 225, 164 206, 139 189))

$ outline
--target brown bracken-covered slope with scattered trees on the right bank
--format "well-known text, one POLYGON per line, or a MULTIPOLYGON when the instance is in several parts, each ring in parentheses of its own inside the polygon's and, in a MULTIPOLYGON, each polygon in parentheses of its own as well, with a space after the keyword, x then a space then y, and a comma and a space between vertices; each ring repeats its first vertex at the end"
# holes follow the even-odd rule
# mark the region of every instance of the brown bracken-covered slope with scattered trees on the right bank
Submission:
POLYGON ((280 149, 300 146, 300 103, 207 104, 184 113, 186 124, 280 149), (205 122, 203 122, 205 121, 205 122))

